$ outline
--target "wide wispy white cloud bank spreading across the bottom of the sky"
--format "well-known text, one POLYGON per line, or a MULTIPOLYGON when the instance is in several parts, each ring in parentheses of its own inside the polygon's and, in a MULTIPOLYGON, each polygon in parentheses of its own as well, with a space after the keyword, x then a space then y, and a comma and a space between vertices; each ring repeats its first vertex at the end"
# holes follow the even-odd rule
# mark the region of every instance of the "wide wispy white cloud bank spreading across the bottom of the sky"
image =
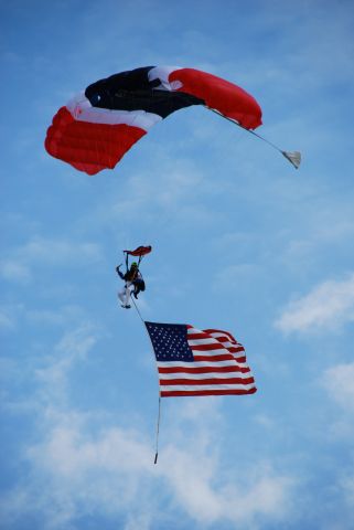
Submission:
MULTIPOLYGON (((290 509, 294 484, 289 477, 257 462, 248 468, 247 480, 242 464, 223 469, 217 457, 222 442, 213 449, 205 443, 201 447, 197 426, 193 439, 186 436, 184 444, 165 446, 154 466, 151 443, 137 428, 114 426, 93 434, 94 417, 73 411, 52 411, 44 418, 50 423, 43 439, 26 452, 31 477, 15 497, 3 499, 6 520, 15 508, 22 516, 41 512, 44 529, 71 528, 89 509, 106 516, 133 512, 127 529, 140 520, 153 529, 164 492, 171 504, 168 512, 184 513, 196 528, 225 522, 257 528, 258 517, 279 520, 290 509)), ((179 437, 178 431, 171 434, 179 437)))

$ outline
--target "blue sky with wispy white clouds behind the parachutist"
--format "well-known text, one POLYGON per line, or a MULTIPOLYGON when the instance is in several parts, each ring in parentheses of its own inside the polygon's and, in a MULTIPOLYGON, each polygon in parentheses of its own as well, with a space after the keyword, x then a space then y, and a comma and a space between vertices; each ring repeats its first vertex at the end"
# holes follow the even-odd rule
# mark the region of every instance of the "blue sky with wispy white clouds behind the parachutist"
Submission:
POLYGON ((0 3, 1 529, 354 527, 351 1, 0 3), (93 178, 45 131, 143 65, 225 77, 277 151, 203 108, 93 178), (167 399, 121 251, 151 244, 147 320, 226 329, 258 392, 167 399))

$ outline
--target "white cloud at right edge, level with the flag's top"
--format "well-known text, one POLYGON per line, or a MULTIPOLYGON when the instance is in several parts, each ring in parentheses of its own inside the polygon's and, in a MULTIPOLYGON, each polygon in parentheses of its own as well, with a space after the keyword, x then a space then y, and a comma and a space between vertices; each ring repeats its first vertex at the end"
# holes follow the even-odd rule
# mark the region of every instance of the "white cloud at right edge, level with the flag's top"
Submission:
POLYGON ((354 320, 354 274, 344 280, 326 280, 291 301, 276 320, 283 332, 337 329, 354 320))

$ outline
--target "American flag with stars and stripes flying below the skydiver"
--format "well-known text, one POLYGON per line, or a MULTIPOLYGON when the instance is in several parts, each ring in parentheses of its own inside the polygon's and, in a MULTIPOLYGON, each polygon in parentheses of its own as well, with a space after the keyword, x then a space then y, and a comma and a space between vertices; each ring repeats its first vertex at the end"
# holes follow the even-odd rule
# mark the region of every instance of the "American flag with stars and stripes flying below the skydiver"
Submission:
POLYGON ((256 392, 245 349, 227 331, 144 324, 157 358, 161 398, 256 392))

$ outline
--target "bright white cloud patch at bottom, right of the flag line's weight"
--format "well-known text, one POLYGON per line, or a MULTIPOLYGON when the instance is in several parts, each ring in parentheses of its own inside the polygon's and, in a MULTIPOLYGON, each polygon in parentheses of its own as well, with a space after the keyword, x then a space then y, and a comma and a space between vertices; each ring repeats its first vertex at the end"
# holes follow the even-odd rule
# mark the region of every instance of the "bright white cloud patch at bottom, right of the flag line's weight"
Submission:
POLYGON ((228 521, 255 528, 258 516, 278 519, 290 509, 294 481, 277 476, 270 465, 257 463, 248 467, 250 478, 244 480, 242 464, 238 469, 228 469, 226 478, 210 449, 195 458, 190 452, 171 446, 164 457, 175 501, 201 524, 228 521))

